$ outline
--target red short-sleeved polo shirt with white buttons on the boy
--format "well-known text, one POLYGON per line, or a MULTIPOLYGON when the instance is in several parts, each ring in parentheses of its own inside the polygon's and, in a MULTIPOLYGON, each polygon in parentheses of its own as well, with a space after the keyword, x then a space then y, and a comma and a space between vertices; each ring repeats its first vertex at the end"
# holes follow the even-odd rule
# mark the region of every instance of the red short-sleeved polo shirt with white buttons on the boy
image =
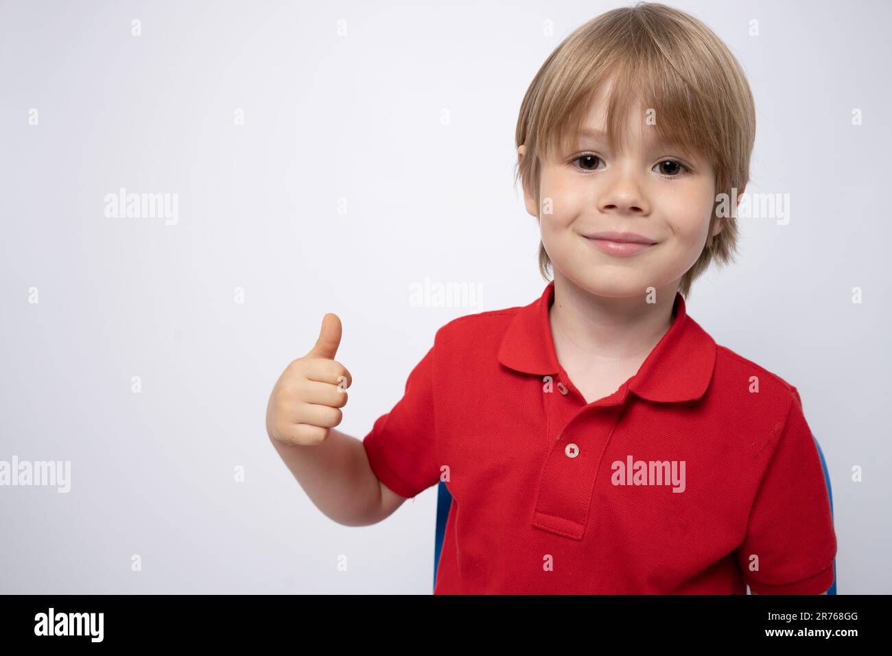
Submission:
POLYGON ((836 535, 796 387, 716 345, 676 294, 638 373, 585 403, 555 353, 553 299, 550 282, 437 330, 365 437, 397 494, 450 489, 434 594, 830 587, 836 535))

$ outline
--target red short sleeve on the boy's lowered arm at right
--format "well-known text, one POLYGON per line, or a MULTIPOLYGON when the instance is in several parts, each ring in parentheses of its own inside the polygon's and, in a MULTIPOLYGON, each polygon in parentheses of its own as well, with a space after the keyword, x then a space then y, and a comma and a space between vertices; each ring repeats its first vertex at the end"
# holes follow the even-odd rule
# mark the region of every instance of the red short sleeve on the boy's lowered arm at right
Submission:
POLYGON ((796 387, 750 512, 738 561, 758 594, 822 594, 833 583, 837 539, 830 497, 796 387), (758 556, 758 569, 750 563, 758 556))

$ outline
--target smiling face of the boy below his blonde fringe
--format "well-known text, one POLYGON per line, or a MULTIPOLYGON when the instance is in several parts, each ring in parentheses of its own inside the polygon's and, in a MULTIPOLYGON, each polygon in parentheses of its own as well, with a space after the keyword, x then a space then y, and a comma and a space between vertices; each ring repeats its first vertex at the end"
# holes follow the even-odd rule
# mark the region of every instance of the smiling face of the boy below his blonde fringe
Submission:
MULTIPOLYGON (((607 84, 591 105, 583 132, 604 131, 608 93, 607 84)), ((622 151, 612 151, 604 137, 582 134, 575 147, 543 159, 541 208, 524 194, 527 211, 540 220, 555 277, 569 278, 594 295, 631 297, 645 294, 648 286, 674 295, 706 244, 714 207, 712 162, 659 144, 646 118, 644 108, 632 113, 622 151), (635 233, 648 245, 591 238, 608 231, 635 233)), ((721 229, 716 221, 714 234, 721 229)))

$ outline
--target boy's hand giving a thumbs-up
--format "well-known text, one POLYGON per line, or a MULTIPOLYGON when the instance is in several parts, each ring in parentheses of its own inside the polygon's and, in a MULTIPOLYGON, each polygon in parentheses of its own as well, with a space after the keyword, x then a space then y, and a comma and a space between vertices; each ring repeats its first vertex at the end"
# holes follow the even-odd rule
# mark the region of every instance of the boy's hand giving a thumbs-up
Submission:
POLYGON ((347 403, 346 388, 352 378, 335 361, 340 344, 341 320, 329 312, 322 318, 316 345, 288 365, 269 394, 267 433, 271 438, 285 444, 319 444, 341 423, 339 409, 347 403))

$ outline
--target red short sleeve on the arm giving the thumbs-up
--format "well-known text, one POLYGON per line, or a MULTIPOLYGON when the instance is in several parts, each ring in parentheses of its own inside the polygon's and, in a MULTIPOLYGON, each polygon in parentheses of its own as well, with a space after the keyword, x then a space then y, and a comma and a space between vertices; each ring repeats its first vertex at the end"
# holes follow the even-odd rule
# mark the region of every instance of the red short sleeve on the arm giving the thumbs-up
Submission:
POLYGON ((409 373, 402 398, 376 419, 362 441, 378 479, 414 497, 440 481, 434 433, 434 346, 409 373))

